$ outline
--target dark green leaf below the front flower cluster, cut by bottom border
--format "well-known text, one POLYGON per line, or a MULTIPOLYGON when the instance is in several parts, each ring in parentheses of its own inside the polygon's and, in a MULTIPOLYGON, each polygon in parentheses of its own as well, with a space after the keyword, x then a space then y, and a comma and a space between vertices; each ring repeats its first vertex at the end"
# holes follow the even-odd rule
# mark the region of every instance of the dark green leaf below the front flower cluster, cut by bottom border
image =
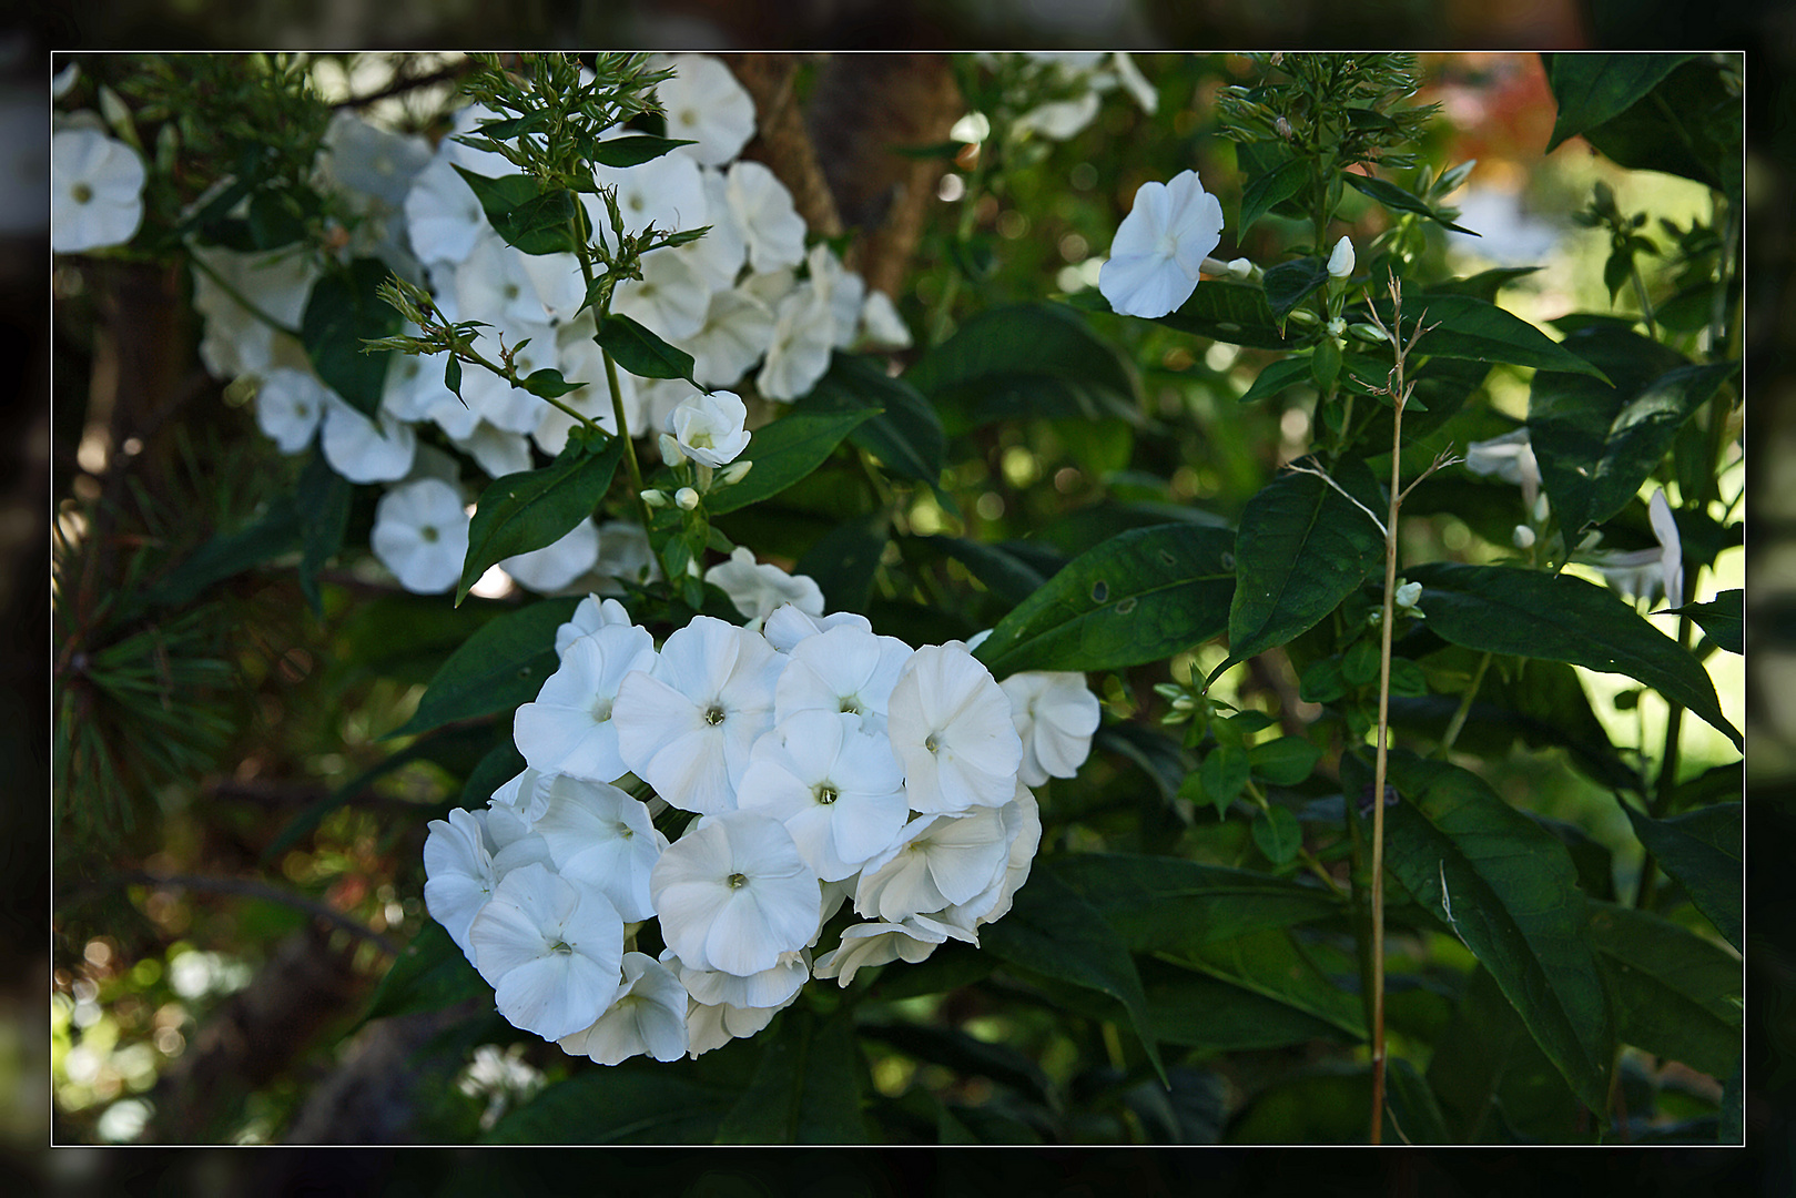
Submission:
POLYGON ((853 1008, 828 1018, 792 1008, 754 1079, 717 1128, 718 1144, 866 1144, 853 1008))

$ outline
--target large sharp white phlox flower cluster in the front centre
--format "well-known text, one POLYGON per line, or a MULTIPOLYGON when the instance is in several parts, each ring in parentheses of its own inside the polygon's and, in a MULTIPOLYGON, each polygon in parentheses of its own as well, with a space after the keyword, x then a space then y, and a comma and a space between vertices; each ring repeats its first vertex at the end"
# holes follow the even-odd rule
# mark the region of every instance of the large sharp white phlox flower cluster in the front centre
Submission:
POLYGON ((959 641, 790 603, 657 648, 591 596, 557 650, 515 717, 530 767, 431 823, 424 900, 505 1018, 607 1065, 754 1035, 808 977, 977 945, 1029 876, 1029 787, 1070 778, 1099 720, 1083 675, 1000 686, 959 641), (695 815, 672 842, 668 808, 695 815))

